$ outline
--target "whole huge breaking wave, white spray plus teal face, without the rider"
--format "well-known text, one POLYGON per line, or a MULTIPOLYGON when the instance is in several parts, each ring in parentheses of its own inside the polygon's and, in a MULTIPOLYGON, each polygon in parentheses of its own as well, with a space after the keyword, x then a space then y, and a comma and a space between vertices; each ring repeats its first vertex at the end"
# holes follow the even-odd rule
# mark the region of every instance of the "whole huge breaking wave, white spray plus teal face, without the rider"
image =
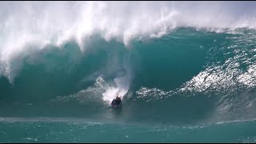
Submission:
POLYGON ((152 126, 253 120, 255 4, 2 2, 0 115, 152 126))

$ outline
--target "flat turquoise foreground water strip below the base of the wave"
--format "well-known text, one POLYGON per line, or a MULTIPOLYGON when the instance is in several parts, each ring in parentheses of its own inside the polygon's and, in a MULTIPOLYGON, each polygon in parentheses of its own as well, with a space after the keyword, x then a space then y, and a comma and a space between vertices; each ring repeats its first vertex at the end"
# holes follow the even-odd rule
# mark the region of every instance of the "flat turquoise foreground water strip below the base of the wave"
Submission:
POLYGON ((77 118, 6 118, 2 142, 255 142, 255 122, 201 126, 86 122, 77 118))

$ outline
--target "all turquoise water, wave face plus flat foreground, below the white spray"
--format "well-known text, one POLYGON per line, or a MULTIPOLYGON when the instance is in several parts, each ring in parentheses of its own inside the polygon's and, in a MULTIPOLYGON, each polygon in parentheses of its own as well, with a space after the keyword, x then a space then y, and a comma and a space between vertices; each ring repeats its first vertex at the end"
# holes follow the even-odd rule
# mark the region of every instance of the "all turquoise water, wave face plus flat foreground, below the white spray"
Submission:
POLYGON ((254 142, 255 77, 239 78, 256 62, 255 32, 240 31, 178 29, 128 50, 96 35, 90 53, 74 42, 36 51, 14 83, 1 78, 1 142, 254 142), (114 78, 130 82, 120 109, 103 100, 126 88, 114 78))

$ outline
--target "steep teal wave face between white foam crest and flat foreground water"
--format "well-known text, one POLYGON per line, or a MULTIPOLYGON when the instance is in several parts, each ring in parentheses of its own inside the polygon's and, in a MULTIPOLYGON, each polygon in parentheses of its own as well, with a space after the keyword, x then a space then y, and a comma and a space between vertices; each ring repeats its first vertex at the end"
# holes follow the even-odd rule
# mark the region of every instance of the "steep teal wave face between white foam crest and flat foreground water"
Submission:
POLYGON ((146 42, 134 39, 130 49, 95 35, 86 53, 75 42, 34 50, 14 58, 12 66, 22 68, 12 83, 1 78, 1 113, 108 117, 118 92, 125 120, 254 118, 254 34, 181 28, 146 42))

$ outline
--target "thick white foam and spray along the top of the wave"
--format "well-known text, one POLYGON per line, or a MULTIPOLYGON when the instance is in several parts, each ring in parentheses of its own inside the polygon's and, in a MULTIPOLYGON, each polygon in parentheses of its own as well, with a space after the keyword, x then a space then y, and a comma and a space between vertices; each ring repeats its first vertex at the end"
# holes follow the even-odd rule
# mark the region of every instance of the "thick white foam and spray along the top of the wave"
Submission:
POLYGON ((27 45, 42 49, 98 33, 126 46, 132 38, 161 37, 180 26, 220 30, 256 26, 256 2, 0 2, 0 65, 27 45))

